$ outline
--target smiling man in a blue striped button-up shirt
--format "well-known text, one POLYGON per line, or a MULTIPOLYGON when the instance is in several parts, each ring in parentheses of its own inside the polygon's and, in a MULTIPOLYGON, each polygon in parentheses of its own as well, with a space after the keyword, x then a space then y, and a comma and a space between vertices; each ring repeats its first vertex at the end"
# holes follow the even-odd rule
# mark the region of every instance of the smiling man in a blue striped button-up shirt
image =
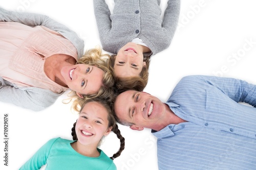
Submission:
POLYGON ((114 104, 120 124, 152 129, 159 169, 255 169, 255 107, 256 85, 211 76, 184 77, 166 103, 128 90, 114 104))

